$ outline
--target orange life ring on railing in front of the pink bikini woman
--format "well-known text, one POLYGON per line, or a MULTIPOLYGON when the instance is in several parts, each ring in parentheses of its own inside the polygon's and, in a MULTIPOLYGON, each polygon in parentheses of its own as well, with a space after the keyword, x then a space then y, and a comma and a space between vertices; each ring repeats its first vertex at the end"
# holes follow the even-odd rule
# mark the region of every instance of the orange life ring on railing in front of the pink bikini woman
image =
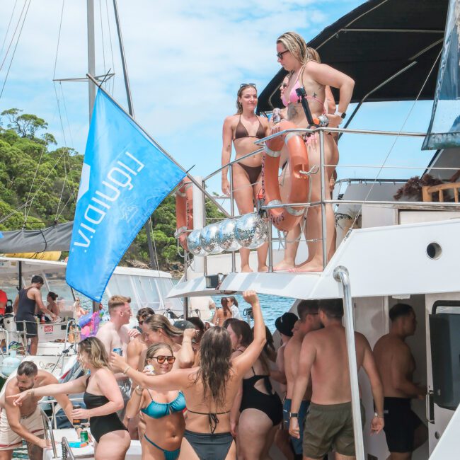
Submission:
MULTIPOLYGON (((282 120, 277 127, 280 131, 297 129, 297 126, 287 120, 282 120)), ((291 171, 291 190, 289 203, 304 203, 309 195, 309 181, 300 171, 309 171, 309 158, 301 134, 289 132, 265 142, 265 152, 262 159, 262 190, 265 205, 281 205, 280 184, 278 171, 280 155, 283 146, 287 146, 289 168, 291 171)), ((304 207, 277 207, 268 209, 268 216, 273 225, 282 231, 289 231, 296 226, 304 207)))

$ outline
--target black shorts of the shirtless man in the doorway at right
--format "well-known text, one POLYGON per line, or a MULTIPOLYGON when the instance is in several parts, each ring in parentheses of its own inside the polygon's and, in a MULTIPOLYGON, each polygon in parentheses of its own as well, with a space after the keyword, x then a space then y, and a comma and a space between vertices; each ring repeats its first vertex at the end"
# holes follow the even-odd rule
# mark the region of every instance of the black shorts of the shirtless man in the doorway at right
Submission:
POLYGON ((412 452, 415 430, 422 420, 410 408, 410 398, 384 398, 384 432, 390 452, 412 452))

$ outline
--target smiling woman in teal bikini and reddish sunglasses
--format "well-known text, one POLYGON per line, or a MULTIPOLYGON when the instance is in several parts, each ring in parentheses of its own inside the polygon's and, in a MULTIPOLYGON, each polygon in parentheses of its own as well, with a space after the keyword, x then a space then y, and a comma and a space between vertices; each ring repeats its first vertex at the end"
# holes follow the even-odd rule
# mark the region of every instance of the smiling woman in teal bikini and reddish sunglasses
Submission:
MULTIPOLYGON (((151 345, 146 352, 144 372, 163 375, 173 369, 176 357, 166 343, 151 345)), ((156 391, 136 386, 126 408, 129 418, 139 410, 144 415, 145 435, 142 437, 142 460, 176 460, 185 431, 183 410, 185 398, 181 391, 156 391)))

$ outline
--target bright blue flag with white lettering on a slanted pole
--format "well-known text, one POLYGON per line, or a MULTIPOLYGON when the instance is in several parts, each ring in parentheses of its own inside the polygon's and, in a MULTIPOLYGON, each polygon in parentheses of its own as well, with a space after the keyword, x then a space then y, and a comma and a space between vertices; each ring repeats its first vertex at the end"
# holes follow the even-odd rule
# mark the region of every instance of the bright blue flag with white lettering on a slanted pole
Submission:
POLYGON ((146 219, 184 176, 99 90, 81 171, 67 283, 100 301, 113 270, 146 219))

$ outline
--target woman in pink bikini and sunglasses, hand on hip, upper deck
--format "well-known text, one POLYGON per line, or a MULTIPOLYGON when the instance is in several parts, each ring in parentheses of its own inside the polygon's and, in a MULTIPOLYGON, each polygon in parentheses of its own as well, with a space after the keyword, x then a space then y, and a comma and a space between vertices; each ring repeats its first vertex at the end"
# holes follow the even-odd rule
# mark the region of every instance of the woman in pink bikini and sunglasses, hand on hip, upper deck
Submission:
MULTIPOLYGON (((355 82, 342 72, 318 62, 318 55, 306 46, 301 36, 295 32, 287 32, 277 39, 277 58, 278 62, 289 71, 289 84, 284 88, 282 101, 287 108, 287 120, 294 122, 299 128, 308 127, 308 122, 301 106, 296 89, 303 87, 306 92, 306 99, 309 104, 311 115, 318 117, 327 113, 329 127, 338 127, 345 118, 345 111, 350 103, 355 82), (329 99, 326 93, 326 86, 333 86, 340 90, 340 100, 338 110, 331 114, 325 108, 324 101, 329 99)), ((327 106, 326 106, 327 107, 327 106)), ((326 169, 326 180, 332 176, 335 165, 338 163, 338 149, 332 136, 325 136, 324 157, 325 162, 330 166, 326 169)), ((309 155, 309 167, 319 165, 319 137, 311 134, 305 137, 305 143, 309 155)), ((321 179, 320 172, 311 175, 311 202, 321 200, 321 179)), ((330 190, 326 188, 326 199, 330 199, 330 190)), ((282 263, 277 265, 277 270, 287 270, 295 272, 321 272, 323 270, 323 251, 321 235, 321 207, 310 207, 306 229, 309 240, 309 258, 305 263, 294 268, 294 257, 284 257, 282 263)), ((335 251, 335 224, 334 214, 331 205, 326 205, 326 229, 327 229, 327 254, 330 258, 335 251)), ((298 232, 297 232, 298 233, 298 232)), ((289 238, 289 237, 288 237, 289 238)), ((292 238, 291 238, 292 239, 292 238)), ((292 251, 292 247, 290 248, 292 251)))

